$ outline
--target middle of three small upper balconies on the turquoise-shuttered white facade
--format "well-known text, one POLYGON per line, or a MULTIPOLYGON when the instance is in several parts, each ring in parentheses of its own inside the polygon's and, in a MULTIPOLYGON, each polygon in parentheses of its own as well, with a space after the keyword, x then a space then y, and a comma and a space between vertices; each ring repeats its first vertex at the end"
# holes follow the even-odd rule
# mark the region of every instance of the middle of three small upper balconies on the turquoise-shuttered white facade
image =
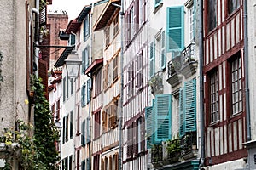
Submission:
POLYGON ((171 84, 172 88, 176 87, 182 81, 182 75, 179 74, 181 66, 181 55, 177 55, 174 59, 168 62, 167 82, 171 84))

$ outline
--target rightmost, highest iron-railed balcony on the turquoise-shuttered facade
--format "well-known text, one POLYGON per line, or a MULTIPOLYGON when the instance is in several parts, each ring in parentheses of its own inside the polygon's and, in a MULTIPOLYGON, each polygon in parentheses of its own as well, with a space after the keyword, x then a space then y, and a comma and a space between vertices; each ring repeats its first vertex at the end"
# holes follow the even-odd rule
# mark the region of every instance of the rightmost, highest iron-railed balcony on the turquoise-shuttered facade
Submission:
POLYGON ((179 71, 185 78, 195 74, 198 65, 195 60, 195 43, 190 43, 188 47, 183 49, 181 53, 181 63, 182 65, 179 71))

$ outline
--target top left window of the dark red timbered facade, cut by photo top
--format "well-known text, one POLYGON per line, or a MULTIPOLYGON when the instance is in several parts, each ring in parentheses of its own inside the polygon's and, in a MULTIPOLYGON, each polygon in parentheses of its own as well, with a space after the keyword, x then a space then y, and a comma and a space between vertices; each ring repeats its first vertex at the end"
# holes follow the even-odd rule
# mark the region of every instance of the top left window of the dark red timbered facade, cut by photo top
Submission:
POLYGON ((217 0, 208 0, 207 3, 207 31, 212 31, 217 26, 217 0))

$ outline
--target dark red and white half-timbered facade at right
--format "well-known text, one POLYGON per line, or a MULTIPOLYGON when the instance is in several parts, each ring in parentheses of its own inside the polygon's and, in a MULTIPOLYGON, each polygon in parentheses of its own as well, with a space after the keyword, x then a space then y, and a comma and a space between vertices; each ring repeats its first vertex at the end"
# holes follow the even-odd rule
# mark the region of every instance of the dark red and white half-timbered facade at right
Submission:
POLYGON ((243 1, 204 1, 206 166, 245 167, 243 1))

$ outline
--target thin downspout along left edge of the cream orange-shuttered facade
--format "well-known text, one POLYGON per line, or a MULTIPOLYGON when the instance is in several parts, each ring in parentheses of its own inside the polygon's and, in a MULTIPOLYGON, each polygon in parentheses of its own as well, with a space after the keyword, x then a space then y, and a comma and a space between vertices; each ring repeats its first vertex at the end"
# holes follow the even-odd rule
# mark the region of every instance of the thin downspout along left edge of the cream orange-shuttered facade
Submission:
MULTIPOLYGON (((92 15, 93 15, 93 8, 94 8, 94 3, 91 3, 91 10, 90 10, 90 61, 92 62, 92 15)), ((92 87, 93 87, 93 79, 91 77, 91 75, 87 75, 88 77, 90 77, 90 82, 91 82, 91 88, 90 88, 90 104, 89 104, 89 127, 90 127, 90 131, 89 132, 92 132, 92 124, 91 124, 91 118, 90 118, 90 111, 91 111, 91 94, 92 94, 92 87)), ((91 135, 90 135, 91 136, 91 135)), ((90 138, 91 139, 91 138, 90 138)), ((91 169, 91 147, 90 147, 90 144, 91 144, 91 140, 89 140, 89 169, 91 169)))

